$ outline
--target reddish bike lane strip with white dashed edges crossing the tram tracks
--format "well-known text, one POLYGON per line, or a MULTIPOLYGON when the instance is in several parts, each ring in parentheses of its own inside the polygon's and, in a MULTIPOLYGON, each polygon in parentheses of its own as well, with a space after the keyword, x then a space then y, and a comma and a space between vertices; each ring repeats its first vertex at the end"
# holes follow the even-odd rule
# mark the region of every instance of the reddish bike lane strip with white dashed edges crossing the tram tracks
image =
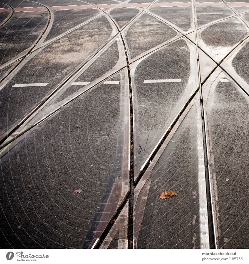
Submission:
MULTIPOLYGON (((132 4, 134 7, 148 7, 150 3, 141 3, 141 4, 132 4)), ((228 2, 231 7, 249 7, 249 2, 228 2)), ((119 4, 100 4, 96 5, 99 8, 113 8, 118 6, 119 4)), ((190 7, 191 2, 160 2, 153 4, 152 7, 190 7)), ((195 2, 196 7, 224 7, 226 6, 223 2, 195 2)), ((53 6, 50 7, 55 11, 63 11, 63 10, 81 10, 81 9, 95 9, 91 5, 68 5, 68 6, 53 6)), ((122 4, 118 8, 132 8, 129 5, 122 4)), ((15 8, 15 12, 33 12, 33 11, 46 11, 45 7, 17 7, 15 8)), ((0 12, 9 12, 8 8, 0 8, 0 12)))

